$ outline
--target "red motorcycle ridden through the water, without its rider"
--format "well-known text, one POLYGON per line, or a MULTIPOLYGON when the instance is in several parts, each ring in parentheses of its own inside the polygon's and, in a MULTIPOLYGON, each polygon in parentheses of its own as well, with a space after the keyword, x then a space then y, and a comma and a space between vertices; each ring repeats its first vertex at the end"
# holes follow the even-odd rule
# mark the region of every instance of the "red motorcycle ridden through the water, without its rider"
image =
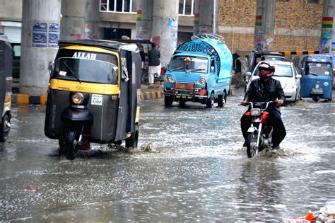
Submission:
POLYGON ((266 118, 269 115, 266 109, 271 103, 276 103, 276 101, 246 103, 246 105, 250 105, 250 110, 247 110, 245 115, 252 116, 247 137, 247 155, 249 158, 271 146, 273 127, 266 123, 266 118))

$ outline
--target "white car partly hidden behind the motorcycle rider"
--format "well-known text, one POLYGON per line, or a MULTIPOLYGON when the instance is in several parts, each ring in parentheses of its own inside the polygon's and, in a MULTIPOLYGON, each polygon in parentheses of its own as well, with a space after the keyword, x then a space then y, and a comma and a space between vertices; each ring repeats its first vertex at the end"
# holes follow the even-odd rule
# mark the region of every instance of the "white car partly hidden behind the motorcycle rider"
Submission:
MULTIPOLYGON (((261 62, 259 62, 259 64, 261 62)), ((266 63, 275 67, 274 76, 272 77, 278 81, 281 81, 281 86, 284 90, 286 101, 299 101, 301 74, 298 74, 294 64, 292 62, 284 61, 266 61, 266 63)), ((246 73, 246 75, 249 76, 247 88, 249 87, 249 84, 252 80, 259 78, 257 69, 259 64, 257 64, 252 73, 246 73)))

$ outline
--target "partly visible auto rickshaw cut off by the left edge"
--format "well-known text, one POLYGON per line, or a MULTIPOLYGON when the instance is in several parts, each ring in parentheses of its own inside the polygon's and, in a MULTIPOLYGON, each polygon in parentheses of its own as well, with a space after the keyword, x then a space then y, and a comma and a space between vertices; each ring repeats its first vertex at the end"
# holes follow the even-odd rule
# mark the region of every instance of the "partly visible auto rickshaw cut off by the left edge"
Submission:
POLYGON ((6 35, 0 35, 0 142, 6 142, 11 130, 11 81, 13 49, 6 35))

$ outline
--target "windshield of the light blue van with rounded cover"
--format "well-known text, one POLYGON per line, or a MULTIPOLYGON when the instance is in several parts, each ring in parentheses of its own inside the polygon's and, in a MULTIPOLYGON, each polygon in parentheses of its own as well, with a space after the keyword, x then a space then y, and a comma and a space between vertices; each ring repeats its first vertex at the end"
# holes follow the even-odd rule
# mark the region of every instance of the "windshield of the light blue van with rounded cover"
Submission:
POLYGON ((173 57, 169 65, 169 71, 207 73, 208 59, 206 57, 173 57))

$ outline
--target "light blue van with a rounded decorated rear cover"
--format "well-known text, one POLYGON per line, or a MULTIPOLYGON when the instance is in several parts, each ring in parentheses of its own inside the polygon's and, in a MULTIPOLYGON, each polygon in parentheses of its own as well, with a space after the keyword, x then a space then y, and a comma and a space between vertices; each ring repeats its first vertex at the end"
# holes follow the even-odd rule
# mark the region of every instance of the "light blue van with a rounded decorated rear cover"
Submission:
POLYGON ((224 39, 214 34, 194 35, 172 55, 164 79, 164 103, 187 101, 223 107, 230 93, 233 57, 224 39))

